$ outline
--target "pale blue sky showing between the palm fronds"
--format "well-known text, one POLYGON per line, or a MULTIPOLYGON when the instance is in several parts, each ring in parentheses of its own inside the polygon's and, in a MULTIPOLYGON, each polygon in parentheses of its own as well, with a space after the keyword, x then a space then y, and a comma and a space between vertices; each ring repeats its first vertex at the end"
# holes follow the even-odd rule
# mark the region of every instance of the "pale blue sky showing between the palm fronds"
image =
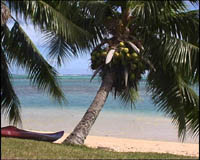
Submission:
MULTIPOLYGON (((187 3, 187 2, 186 2, 187 3)), ((192 6, 190 3, 187 3, 188 8, 190 10, 198 9, 199 6, 192 6)), ((11 27, 13 23, 10 21, 9 26, 11 27)), ((66 60, 65 63, 61 67, 57 67, 55 63, 52 63, 50 59, 47 57, 47 49, 43 46, 44 39, 42 38, 43 35, 39 29, 34 29, 32 24, 26 25, 23 21, 20 21, 20 25, 31 38, 31 40, 35 43, 36 47, 39 49, 41 54, 45 57, 45 59, 50 62, 50 64, 56 68, 60 75, 67 75, 67 74, 83 74, 83 75, 90 75, 93 71, 90 69, 90 54, 86 53, 79 58, 74 58, 71 60, 66 60)), ((12 74, 25 74, 23 69, 12 66, 10 68, 12 74)))

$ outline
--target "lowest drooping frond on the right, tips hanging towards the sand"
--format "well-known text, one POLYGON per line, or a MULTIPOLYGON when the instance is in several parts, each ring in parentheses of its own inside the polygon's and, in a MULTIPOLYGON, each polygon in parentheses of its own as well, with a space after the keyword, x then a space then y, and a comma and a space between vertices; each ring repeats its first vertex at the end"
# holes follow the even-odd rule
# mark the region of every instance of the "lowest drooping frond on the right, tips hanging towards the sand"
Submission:
POLYGON ((150 72, 147 79, 154 104, 172 118, 181 140, 187 131, 198 135, 199 97, 174 67, 168 65, 168 70, 162 70, 161 64, 157 63, 156 70, 150 72))

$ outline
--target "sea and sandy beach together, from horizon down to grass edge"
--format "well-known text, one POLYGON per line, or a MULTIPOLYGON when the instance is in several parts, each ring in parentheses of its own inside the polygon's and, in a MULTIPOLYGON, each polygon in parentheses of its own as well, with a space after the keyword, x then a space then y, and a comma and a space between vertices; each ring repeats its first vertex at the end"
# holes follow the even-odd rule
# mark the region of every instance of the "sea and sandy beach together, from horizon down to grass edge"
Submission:
MULTIPOLYGON (((62 88, 70 101, 65 106, 59 106, 47 95, 41 94, 33 87, 27 87, 29 81, 25 76, 14 76, 16 93, 22 97, 23 128, 44 133, 64 130, 65 134, 54 142, 62 143, 84 115, 100 85, 98 78, 90 82, 90 77, 90 75, 60 77, 62 88)), ((183 143, 178 139, 177 128, 171 123, 171 119, 156 111, 151 103, 149 95, 145 92, 145 80, 140 84, 139 93, 141 99, 132 109, 110 95, 85 145, 118 152, 198 156, 198 137, 188 136, 183 143)), ((1 126, 7 125, 8 122, 2 119, 1 126)))

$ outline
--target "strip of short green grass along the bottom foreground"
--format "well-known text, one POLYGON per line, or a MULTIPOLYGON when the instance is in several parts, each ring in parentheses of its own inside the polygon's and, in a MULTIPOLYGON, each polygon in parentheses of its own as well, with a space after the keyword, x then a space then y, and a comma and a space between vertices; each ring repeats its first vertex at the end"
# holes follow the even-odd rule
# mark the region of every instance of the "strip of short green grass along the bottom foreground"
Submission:
POLYGON ((197 159, 197 157, 166 153, 115 152, 86 146, 15 138, 1 138, 1 156, 2 159, 197 159))

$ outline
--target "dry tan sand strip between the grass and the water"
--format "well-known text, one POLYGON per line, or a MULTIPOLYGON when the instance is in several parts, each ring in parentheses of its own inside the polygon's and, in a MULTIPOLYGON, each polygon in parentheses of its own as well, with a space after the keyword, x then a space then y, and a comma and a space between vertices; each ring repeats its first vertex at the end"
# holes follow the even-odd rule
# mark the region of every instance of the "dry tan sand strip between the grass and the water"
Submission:
MULTIPOLYGON (((62 143, 68 134, 55 141, 62 143)), ((107 148, 119 152, 158 152, 177 155, 199 156, 199 144, 164 141, 135 140, 102 136, 88 136, 85 145, 94 148, 107 148)))

